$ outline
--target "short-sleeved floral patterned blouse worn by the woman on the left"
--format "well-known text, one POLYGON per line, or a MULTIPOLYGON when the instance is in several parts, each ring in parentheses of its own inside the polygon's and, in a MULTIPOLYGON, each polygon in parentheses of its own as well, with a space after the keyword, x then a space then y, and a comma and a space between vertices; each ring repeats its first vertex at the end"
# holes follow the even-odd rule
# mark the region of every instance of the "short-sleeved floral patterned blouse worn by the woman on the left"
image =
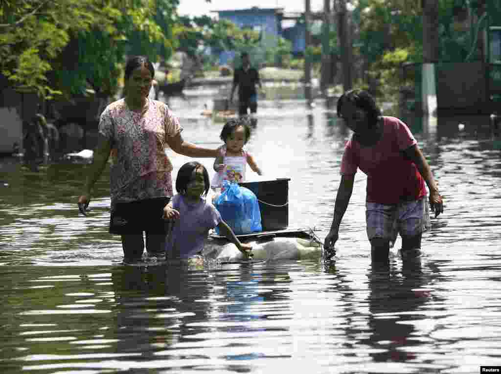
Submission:
POLYGON ((179 120, 160 101, 147 99, 142 113, 131 111, 125 99, 106 107, 99 133, 116 149, 110 171, 112 209, 117 202, 172 197, 172 164, 165 149, 181 131, 179 120))

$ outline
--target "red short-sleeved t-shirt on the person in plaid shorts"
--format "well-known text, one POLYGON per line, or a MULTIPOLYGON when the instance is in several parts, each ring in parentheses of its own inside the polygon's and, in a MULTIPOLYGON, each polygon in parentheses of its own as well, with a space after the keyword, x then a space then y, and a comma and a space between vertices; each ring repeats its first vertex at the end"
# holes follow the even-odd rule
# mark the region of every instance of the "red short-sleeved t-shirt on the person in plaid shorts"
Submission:
POLYGON ((357 168, 367 174, 367 202, 398 204, 426 196, 424 180, 403 151, 416 139, 406 124, 395 117, 383 117, 379 142, 363 147, 354 136, 346 143, 341 174, 354 175, 357 168))

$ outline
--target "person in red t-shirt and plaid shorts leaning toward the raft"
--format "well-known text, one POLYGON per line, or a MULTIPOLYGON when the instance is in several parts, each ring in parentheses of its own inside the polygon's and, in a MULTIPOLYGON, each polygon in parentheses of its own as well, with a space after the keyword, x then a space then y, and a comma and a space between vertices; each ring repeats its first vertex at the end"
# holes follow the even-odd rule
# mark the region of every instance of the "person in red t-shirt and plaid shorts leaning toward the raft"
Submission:
POLYGON ((341 183, 332 226, 325 238, 327 253, 339 237, 339 226, 353 191, 358 169, 367 174, 367 236, 373 261, 387 261, 397 234, 402 237, 402 258, 419 254, 425 220, 425 183, 435 217, 443 212, 442 197, 416 139, 405 123, 382 116, 366 91, 344 93, 337 104, 338 117, 353 131, 341 161, 341 183))

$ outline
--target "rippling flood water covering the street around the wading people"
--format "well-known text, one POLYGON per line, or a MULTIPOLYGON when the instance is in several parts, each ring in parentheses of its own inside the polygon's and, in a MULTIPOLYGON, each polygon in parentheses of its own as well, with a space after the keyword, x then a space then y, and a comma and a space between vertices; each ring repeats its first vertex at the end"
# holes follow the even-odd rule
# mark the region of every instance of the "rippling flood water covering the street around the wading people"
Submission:
MULTIPOLYGON (((214 94, 170 101, 186 140, 220 145, 222 122, 200 115, 214 94)), ((350 132, 335 108, 315 104, 261 100, 247 148, 266 176, 291 178, 290 227, 323 239, 350 132)), ((476 373, 501 364, 499 139, 486 117, 404 119, 445 207, 420 260, 402 263, 398 240, 389 267, 371 266, 360 172, 334 266, 134 267, 107 233, 107 172, 85 218, 76 202, 86 166, 33 173, 1 159, 0 372, 476 373)), ((168 152, 175 176, 188 158, 168 152)), ((212 173, 213 160, 201 161, 212 173)))

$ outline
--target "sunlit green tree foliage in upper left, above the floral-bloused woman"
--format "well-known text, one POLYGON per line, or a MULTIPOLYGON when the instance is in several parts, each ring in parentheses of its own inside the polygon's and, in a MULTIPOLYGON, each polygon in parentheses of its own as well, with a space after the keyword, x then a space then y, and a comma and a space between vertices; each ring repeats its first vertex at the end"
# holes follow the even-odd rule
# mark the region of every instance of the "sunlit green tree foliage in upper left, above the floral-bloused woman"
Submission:
POLYGON ((0 73, 42 97, 111 94, 131 46, 170 56, 178 0, 3 0, 0 73))

